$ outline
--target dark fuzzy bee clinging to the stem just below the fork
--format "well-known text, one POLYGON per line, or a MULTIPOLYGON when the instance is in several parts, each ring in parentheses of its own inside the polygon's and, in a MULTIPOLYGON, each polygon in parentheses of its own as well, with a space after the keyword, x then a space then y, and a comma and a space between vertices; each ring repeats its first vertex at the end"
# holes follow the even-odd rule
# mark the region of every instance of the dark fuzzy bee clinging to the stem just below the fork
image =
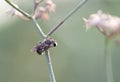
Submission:
POLYGON ((37 52, 38 55, 43 55, 45 51, 52 47, 56 47, 57 42, 52 38, 44 39, 42 42, 39 42, 34 48, 33 51, 37 52))

